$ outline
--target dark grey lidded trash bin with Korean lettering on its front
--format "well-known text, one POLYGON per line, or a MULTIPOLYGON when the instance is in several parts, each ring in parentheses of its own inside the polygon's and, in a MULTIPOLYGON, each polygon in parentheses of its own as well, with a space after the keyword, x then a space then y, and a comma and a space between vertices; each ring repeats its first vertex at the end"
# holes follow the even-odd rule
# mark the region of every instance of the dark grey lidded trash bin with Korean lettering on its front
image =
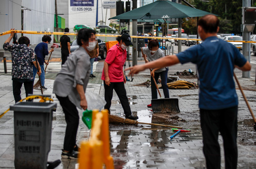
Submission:
POLYGON ((56 103, 19 102, 14 110, 15 169, 47 169, 56 103))

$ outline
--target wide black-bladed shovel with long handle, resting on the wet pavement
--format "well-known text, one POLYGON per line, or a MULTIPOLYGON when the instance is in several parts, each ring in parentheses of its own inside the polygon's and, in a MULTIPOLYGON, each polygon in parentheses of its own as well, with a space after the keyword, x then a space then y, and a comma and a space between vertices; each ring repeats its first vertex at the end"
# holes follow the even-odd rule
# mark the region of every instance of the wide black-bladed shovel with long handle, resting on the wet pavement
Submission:
MULTIPOLYGON (((151 69, 149 69, 151 72, 151 69)), ((153 76, 152 76, 153 77, 153 76)), ((165 98, 162 99, 161 93, 158 89, 158 85, 153 77, 154 84, 158 90, 161 99, 152 99, 151 106, 154 113, 179 113, 179 100, 177 98, 165 98)))

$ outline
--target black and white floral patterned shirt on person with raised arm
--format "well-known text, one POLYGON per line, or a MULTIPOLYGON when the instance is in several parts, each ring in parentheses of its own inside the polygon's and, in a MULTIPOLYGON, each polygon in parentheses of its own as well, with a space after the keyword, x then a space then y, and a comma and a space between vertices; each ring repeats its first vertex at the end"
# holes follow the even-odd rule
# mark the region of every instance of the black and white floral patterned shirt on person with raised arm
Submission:
POLYGON ((34 50, 26 44, 5 43, 3 48, 5 51, 11 51, 12 78, 33 80, 34 50))

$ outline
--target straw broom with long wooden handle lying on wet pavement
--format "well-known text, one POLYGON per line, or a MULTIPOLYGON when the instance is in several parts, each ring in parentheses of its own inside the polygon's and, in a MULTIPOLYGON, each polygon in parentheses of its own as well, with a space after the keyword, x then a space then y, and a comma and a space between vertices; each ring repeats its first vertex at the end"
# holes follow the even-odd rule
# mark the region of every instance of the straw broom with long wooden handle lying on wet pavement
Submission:
POLYGON ((130 125, 138 125, 138 124, 144 124, 144 125, 158 125, 158 126, 163 126, 163 127, 171 127, 171 128, 178 128, 178 129, 182 129, 182 127, 179 126, 173 126, 173 125, 160 125, 160 124, 155 124, 155 123, 144 123, 144 122, 139 122, 136 120, 130 120, 128 118, 124 119, 124 118, 120 118, 118 116, 114 116, 109 114, 109 123, 125 123, 125 124, 130 124, 130 125))

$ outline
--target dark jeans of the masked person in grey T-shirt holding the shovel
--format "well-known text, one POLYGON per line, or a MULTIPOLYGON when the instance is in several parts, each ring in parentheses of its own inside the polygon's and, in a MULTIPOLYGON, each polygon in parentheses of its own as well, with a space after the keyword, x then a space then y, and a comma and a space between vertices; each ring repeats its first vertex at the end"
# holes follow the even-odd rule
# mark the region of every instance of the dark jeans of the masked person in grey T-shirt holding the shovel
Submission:
MULTIPOLYGON (((161 84, 162 84, 162 88, 163 88, 165 98, 170 98, 169 88, 167 86, 168 70, 169 69, 167 68, 165 71, 154 73, 154 79, 155 79, 156 82, 158 81, 159 76, 161 76, 161 84)), ((158 91, 157 91, 157 88, 154 84, 154 80, 153 80, 152 76, 151 76, 151 95, 152 95, 152 99, 157 99, 158 91)))

